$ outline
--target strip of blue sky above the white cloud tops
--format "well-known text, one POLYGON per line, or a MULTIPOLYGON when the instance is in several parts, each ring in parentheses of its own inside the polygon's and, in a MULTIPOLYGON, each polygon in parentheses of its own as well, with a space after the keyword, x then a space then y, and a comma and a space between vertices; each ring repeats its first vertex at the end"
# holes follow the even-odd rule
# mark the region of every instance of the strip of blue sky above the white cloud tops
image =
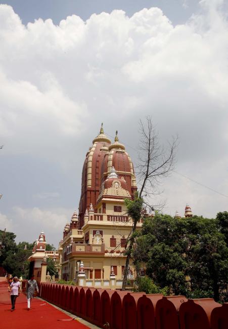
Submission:
POLYGON ((86 20, 94 13, 111 13, 114 9, 121 9, 132 16, 143 8, 151 7, 161 8, 174 24, 181 24, 199 10, 197 0, 13 0, 3 4, 12 6, 24 24, 38 18, 51 18, 59 24, 73 14, 86 20))

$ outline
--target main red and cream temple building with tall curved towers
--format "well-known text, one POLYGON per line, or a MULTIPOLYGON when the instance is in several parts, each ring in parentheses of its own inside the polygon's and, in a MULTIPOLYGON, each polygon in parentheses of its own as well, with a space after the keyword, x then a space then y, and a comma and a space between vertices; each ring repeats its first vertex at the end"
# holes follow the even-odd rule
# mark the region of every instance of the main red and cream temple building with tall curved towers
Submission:
MULTIPOLYGON (((66 223, 60 241, 63 279, 87 286, 121 287, 126 238, 132 227, 124 199, 132 199, 136 190, 125 146, 117 132, 112 143, 101 127, 85 156, 79 212, 66 223)), ((128 277, 134 278, 131 266, 128 277)))

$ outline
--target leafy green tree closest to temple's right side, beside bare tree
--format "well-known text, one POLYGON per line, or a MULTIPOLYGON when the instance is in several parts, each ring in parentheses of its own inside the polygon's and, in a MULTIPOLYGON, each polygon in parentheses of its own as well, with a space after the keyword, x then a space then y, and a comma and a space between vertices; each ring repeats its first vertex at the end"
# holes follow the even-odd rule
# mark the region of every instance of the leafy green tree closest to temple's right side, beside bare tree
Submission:
POLYGON ((182 219, 156 214, 145 219, 142 236, 137 241, 135 253, 143 255, 147 263, 147 274, 155 284, 169 286, 175 294, 186 293, 186 258, 183 256, 185 243, 180 241, 185 232, 182 219))

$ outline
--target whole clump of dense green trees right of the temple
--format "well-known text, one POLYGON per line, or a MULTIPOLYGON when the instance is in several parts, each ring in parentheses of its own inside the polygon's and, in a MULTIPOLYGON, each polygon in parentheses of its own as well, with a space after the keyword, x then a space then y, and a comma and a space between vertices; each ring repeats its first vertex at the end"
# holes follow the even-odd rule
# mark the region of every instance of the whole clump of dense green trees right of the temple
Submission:
POLYGON ((156 285, 169 286, 175 294, 207 297, 212 292, 216 301, 226 300, 228 248, 217 219, 156 214, 145 219, 132 256, 146 263, 156 285))

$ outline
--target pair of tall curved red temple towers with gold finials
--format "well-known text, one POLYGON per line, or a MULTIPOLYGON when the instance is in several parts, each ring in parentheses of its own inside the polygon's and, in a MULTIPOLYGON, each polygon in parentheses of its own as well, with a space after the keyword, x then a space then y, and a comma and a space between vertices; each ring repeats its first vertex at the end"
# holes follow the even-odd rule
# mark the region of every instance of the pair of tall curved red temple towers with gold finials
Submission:
POLYGON ((104 188, 104 181, 112 167, 115 168, 118 178, 126 183, 127 190, 132 196, 137 190, 132 161, 125 151, 125 146, 119 143, 117 132, 115 142, 111 144, 110 139, 104 134, 102 124, 100 134, 93 140, 93 146, 86 154, 82 169, 79 228, 84 224, 83 216, 90 203, 96 207, 100 190, 104 188))

